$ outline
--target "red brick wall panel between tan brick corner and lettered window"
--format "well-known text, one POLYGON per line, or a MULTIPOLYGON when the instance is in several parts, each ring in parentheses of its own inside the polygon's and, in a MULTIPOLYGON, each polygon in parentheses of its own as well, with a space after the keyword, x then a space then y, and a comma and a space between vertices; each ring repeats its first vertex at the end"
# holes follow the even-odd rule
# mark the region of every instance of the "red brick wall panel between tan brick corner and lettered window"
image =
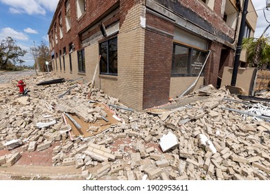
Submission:
MULTIPOLYGON (((147 12, 146 24, 168 33, 174 24, 147 12)), ((168 103, 172 67, 172 37, 145 30, 145 66, 143 75, 143 109, 168 103)))

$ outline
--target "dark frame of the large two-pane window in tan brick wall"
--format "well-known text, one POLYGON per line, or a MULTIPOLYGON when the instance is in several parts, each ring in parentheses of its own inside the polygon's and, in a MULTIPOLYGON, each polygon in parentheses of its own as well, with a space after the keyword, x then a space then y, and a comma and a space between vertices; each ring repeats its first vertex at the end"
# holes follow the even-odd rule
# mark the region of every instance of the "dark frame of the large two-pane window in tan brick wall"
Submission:
POLYGON ((100 75, 107 75, 107 76, 118 76, 118 37, 117 35, 116 36, 113 36, 113 37, 109 37, 107 39, 103 39, 102 41, 98 42, 98 46, 99 46, 99 53, 101 55, 101 46, 100 44, 102 43, 107 43, 107 72, 101 72, 101 65, 102 65, 102 59, 100 59, 100 75), (116 39, 116 43, 117 43, 117 46, 116 46, 116 52, 117 52, 117 73, 110 73, 109 72, 109 41, 113 40, 113 39, 116 39))

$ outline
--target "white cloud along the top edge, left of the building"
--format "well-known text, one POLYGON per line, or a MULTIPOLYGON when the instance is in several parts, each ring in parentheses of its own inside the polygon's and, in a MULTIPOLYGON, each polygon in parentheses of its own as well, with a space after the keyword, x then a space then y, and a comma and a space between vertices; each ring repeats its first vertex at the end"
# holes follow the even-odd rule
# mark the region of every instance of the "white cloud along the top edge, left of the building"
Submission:
POLYGON ((14 14, 27 13, 28 15, 45 15, 46 10, 54 12, 59 0, 0 0, 10 6, 14 14))

